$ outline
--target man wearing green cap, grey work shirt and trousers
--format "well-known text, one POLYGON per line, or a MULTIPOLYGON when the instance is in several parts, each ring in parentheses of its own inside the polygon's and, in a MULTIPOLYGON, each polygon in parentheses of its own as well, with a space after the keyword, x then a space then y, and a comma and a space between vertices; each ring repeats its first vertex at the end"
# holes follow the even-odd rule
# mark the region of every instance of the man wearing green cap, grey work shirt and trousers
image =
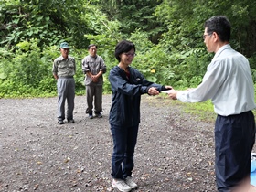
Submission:
POLYGON ((75 99, 75 80, 73 76, 76 72, 76 61, 69 56, 69 44, 60 44, 61 56, 53 62, 52 73, 57 80, 58 90, 58 123, 63 124, 65 119, 65 101, 67 99, 68 123, 75 123, 73 119, 74 99, 75 99))

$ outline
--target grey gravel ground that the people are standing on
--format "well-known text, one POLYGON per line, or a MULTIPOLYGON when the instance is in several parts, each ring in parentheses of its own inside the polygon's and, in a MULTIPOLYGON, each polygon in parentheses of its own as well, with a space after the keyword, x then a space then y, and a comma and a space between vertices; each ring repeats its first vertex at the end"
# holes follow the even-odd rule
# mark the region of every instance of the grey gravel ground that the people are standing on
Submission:
MULTIPOLYGON (((111 95, 103 118, 85 115, 75 99, 75 123, 57 123, 57 98, 0 100, 0 191, 90 192, 112 188, 111 95)), ((213 123, 183 112, 178 101, 144 95, 135 149, 137 192, 216 191, 213 123)))

